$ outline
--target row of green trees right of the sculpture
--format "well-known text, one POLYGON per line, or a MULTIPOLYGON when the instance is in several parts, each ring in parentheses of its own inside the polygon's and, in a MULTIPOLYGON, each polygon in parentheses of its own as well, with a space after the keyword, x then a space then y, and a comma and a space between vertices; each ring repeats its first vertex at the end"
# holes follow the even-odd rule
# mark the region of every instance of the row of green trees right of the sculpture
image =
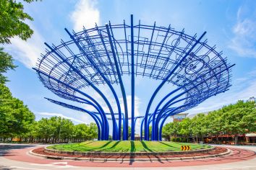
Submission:
POLYGON ((170 139, 176 135, 188 138, 194 136, 196 140, 208 135, 234 135, 235 143, 239 134, 256 131, 255 102, 239 101, 221 109, 209 112, 208 115, 197 114, 186 118, 182 122, 170 122, 163 127, 163 137, 170 139))

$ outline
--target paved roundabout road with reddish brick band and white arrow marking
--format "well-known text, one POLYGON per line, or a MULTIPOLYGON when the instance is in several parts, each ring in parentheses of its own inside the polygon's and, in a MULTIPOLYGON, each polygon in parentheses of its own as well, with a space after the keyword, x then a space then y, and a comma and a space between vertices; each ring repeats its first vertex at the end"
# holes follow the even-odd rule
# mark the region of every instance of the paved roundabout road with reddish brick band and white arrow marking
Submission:
MULTIPOLYGON (((34 169, 34 170, 48 170, 48 169, 93 169, 93 170, 98 170, 98 169, 113 169, 113 170, 132 170, 132 169, 137 169, 137 170, 160 170, 160 169, 179 169, 179 170, 185 170, 185 169, 192 169, 192 170, 212 170, 212 169, 220 169, 220 170, 233 170, 233 169, 256 169, 256 158, 252 158, 249 160, 246 160, 247 158, 244 158, 242 161, 237 161, 237 162, 232 162, 228 164, 212 164, 212 165, 202 165, 202 166, 179 166, 179 167, 132 167, 132 168, 125 168, 125 167, 80 167, 80 166, 74 166, 72 163, 74 161, 58 161, 58 160, 46 160, 45 158, 38 158, 38 157, 33 157, 33 156, 27 156, 24 153, 23 156, 20 156, 20 160, 22 160, 22 157, 30 158, 30 160, 27 161, 16 161, 15 156, 20 154, 20 151, 29 151, 32 148, 35 147, 40 147, 41 145, 25 145, 25 144, 20 144, 20 145, 12 145, 12 144, 0 144, 0 169, 4 170, 9 170, 9 169, 15 169, 15 170, 24 170, 24 169, 34 169), (34 161, 35 160, 35 161, 34 161), (46 163, 47 162, 47 163, 46 163)), ((256 152, 256 147, 255 146, 229 146, 232 148, 243 148, 247 149, 250 151, 255 151, 256 152)), ((204 163, 204 160, 201 160, 202 163, 204 163)), ((198 162, 198 161, 197 161, 198 162)), ((77 163, 77 162, 76 162, 77 163)), ((173 162, 175 164, 175 162, 173 162)), ((184 161, 184 164, 187 162, 184 161)), ((94 163, 95 164, 95 163, 94 163)), ((102 164, 102 163, 101 163, 102 164)), ((145 163, 140 163, 140 166, 143 166, 145 163)), ((159 164, 159 163, 158 163, 159 164)))

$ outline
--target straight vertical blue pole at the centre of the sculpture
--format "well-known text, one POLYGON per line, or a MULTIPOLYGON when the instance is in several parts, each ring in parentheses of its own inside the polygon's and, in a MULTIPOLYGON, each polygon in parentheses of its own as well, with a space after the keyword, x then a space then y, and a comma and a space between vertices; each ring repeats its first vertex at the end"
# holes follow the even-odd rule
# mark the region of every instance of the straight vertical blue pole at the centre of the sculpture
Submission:
POLYGON ((131 51, 132 51, 132 134, 131 140, 135 140, 135 45, 133 35, 133 15, 131 14, 131 51))

